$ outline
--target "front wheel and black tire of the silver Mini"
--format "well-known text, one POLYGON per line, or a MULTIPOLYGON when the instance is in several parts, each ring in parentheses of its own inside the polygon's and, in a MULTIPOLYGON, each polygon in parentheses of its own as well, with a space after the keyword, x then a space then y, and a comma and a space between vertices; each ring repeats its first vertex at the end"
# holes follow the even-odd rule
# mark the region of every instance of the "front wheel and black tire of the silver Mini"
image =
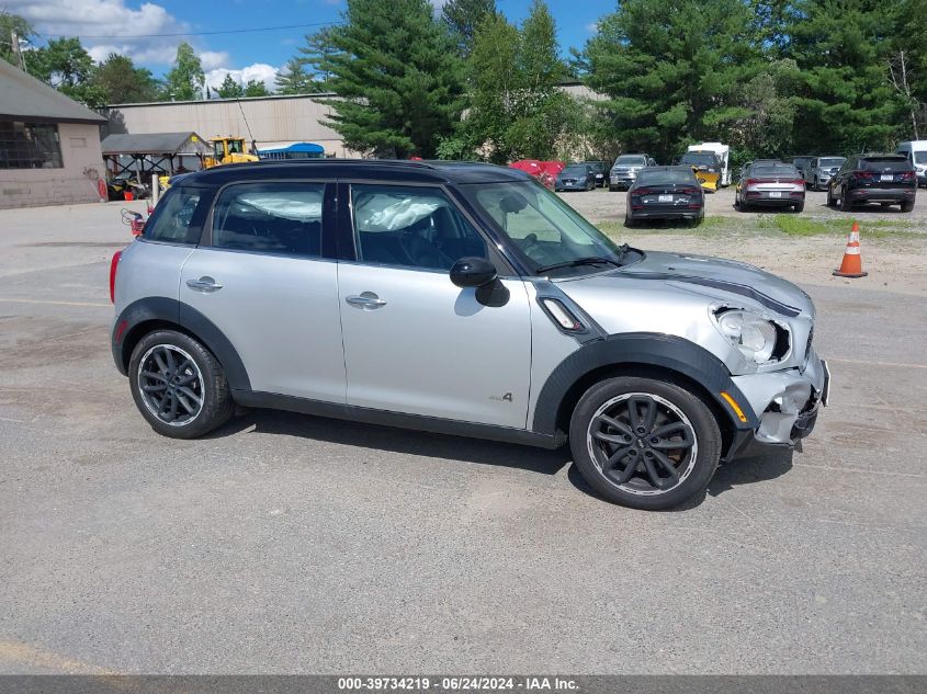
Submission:
POLYGON ((596 384, 580 398, 569 423, 569 444, 579 473, 607 500, 659 511, 704 491, 721 457, 721 430, 708 406, 675 383, 619 376, 596 384), (666 433, 669 426, 675 431, 666 433), (663 436, 654 435, 660 431, 663 436), (671 448, 674 443, 681 447, 671 448), (628 481, 620 483, 625 475, 628 481))

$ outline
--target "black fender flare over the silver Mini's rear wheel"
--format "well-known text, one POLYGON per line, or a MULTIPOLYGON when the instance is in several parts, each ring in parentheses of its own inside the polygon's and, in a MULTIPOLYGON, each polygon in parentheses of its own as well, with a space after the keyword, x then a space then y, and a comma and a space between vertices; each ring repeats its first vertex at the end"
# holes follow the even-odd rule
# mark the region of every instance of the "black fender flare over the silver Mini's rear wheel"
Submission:
POLYGON ((131 356, 126 353, 126 335, 132 334, 136 327, 151 320, 173 323, 194 335, 215 354, 225 371, 229 388, 251 389, 248 371, 225 333, 192 306, 165 296, 152 296, 133 302, 123 309, 113 323, 113 361, 121 374, 126 375, 131 356))

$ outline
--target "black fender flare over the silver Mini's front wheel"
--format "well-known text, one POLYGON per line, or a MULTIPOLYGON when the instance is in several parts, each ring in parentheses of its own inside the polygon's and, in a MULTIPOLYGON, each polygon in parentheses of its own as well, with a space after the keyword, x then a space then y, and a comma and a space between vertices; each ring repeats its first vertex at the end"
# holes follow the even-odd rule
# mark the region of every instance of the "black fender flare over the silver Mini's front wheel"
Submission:
POLYGON ((538 396, 532 430, 552 434, 557 430, 561 405, 569 390, 596 369, 623 364, 666 368, 699 384, 711 394, 735 430, 755 430, 759 419, 734 384, 724 363, 704 348, 676 335, 654 332, 611 334, 587 342, 564 359, 547 376, 538 396), (739 405, 746 421, 721 396, 728 394, 739 405))

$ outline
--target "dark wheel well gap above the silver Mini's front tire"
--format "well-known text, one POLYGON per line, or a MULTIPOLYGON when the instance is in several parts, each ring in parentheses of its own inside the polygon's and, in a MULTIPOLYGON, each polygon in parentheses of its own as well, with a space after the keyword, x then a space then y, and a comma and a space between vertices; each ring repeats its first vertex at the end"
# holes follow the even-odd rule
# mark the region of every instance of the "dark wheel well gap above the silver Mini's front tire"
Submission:
POLYGON ((559 431, 569 431, 569 420, 573 417, 573 411, 583 395, 589 390, 593 385, 607 378, 615 376, 641 376, 644 378, 654 378, 656 380, 665 380, 676 384, 685 388, 696 397, 698 397, 711 410, 712 416, 717 422, 721 430, 722 439, 722 456, 726 455, 734 442, 734 425, 731 418, 721 409, 717 400, 714 399, 700 383, 681 374, 675 369, 653 366, 651 364, 609 364, 600 366, 581 376, 564 395, 557 409, 557 429, 559 431))

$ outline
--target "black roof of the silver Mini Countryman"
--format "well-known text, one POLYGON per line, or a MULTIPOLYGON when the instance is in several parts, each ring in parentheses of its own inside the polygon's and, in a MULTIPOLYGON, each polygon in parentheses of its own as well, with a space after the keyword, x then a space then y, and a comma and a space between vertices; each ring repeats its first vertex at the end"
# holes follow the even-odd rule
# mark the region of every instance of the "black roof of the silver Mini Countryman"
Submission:
POLYGON ((257 179, 372 179, 411 183, 496 183, 530 180, 508 167, 468 161, 391 159, 308 159, 255 161, 204 169, 183 177, 182 185, 213 186, 257 179))

